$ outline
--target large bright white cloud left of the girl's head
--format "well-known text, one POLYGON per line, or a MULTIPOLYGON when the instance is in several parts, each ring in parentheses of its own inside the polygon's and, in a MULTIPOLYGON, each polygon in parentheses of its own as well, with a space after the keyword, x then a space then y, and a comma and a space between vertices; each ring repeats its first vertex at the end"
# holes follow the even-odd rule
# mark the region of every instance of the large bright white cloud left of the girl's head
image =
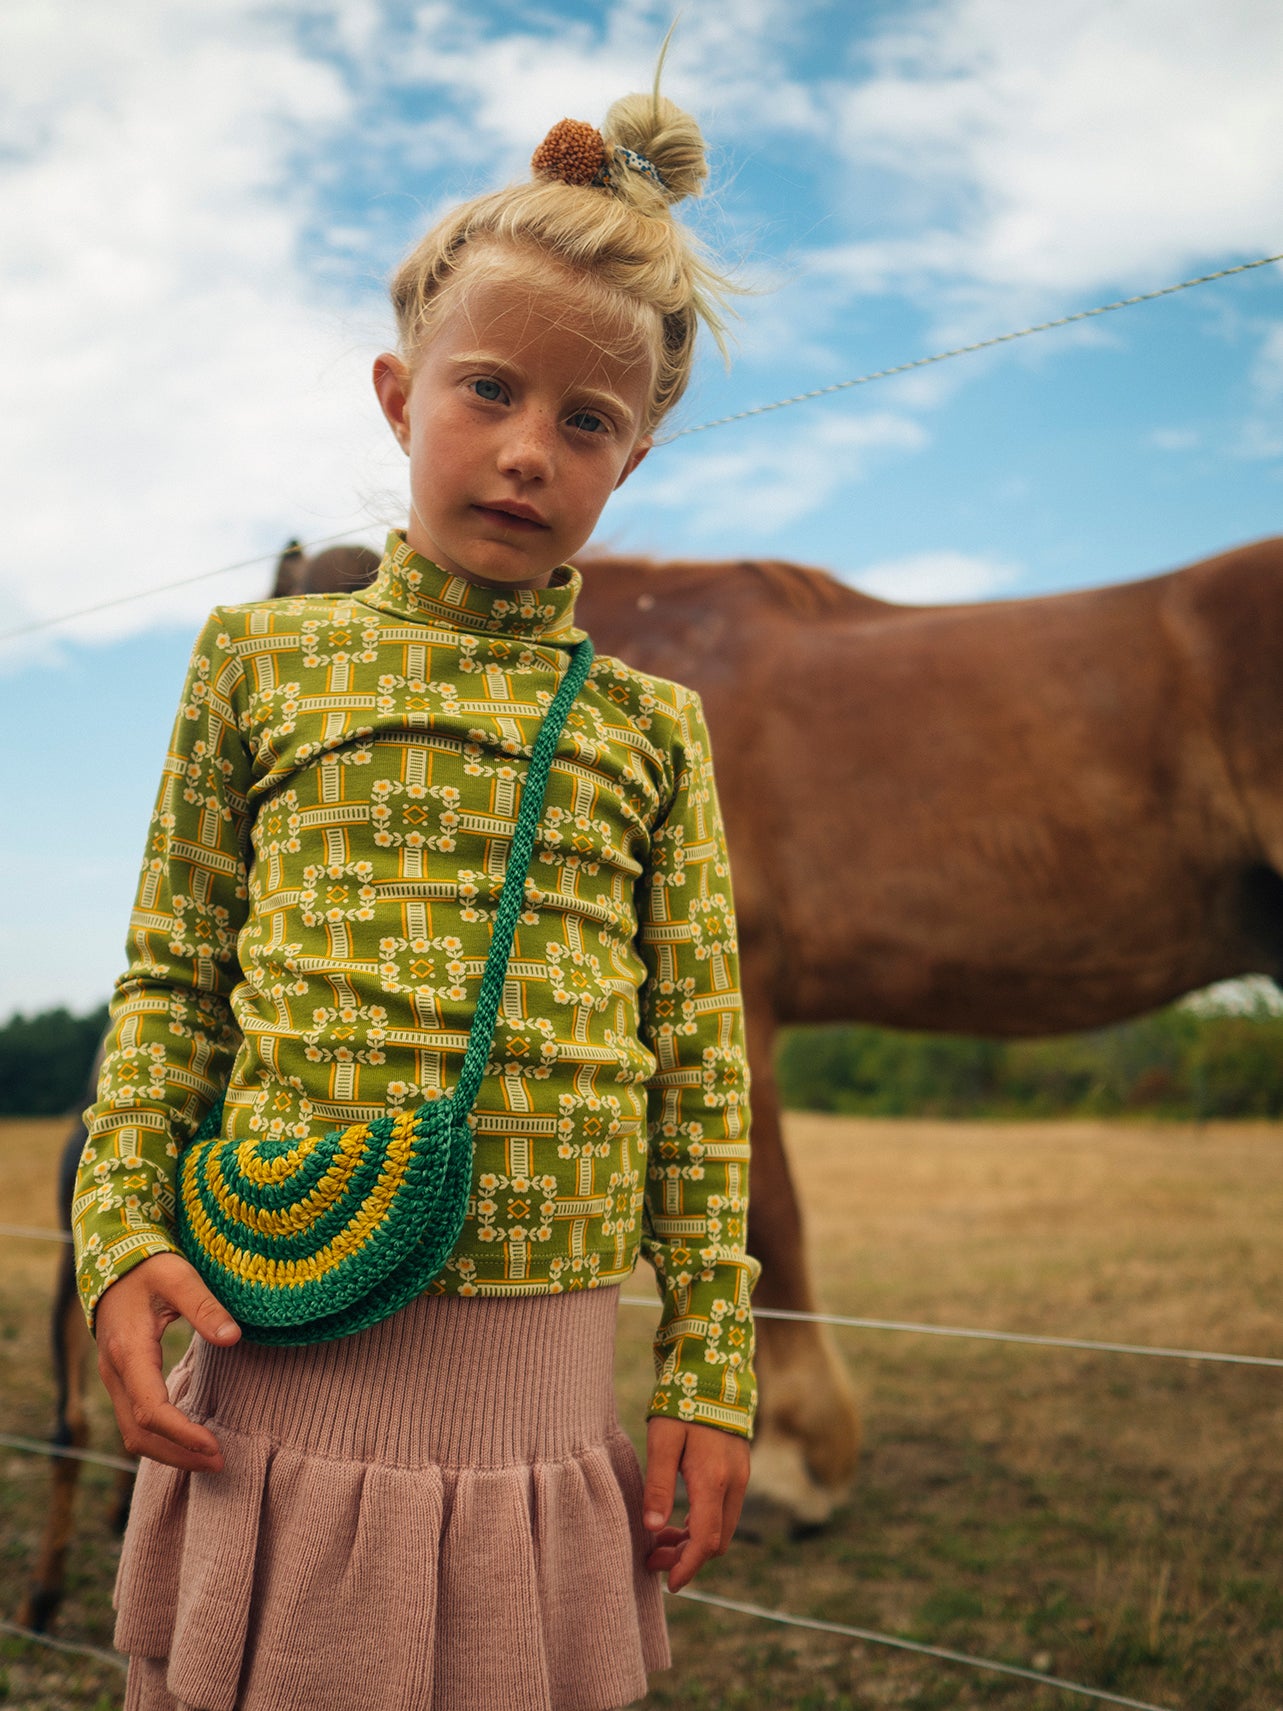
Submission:
MULTIPOLYGON (((248 0, 29 0, 5 14, 0 108, 7 616, 361 522, 363 488, 395 469, 364 373, 383 310, 373 287, 327 299, 301 253, 299 159, 349 121, 342 79, 248 0)), ((263 587, 257 571, 96 625, 263 587)))

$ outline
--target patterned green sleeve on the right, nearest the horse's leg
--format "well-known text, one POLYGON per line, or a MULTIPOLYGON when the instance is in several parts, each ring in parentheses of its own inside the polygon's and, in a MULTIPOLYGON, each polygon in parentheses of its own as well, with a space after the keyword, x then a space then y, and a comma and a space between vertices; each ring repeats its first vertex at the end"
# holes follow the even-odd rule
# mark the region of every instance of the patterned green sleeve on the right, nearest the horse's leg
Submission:
POLYGON ((648 1169, 642 1252, 662 1294, 652 1415, 749 1436, 756 1406, 749 1107, 730 861, 700 698, 684 691, 674 797, 638 885, 648 1169))

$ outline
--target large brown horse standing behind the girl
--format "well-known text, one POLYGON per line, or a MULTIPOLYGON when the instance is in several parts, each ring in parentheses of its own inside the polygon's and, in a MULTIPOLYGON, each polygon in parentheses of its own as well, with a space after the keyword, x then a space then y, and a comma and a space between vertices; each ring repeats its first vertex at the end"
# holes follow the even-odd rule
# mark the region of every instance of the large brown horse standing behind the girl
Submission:
MULTIPOLYGON (((373 554, 282 563, 354 587, 373 554)), ((293 575, 293 582, 291 582, 293 575)), ((782 1023, 1035 1035, 1283 974, 1283 541, 1026 601, 910 607, 777 561, 583 565, 602 652, 700 691, 753 1066, 758 1304, 814 1309, 782 1023)), ((754 1487, 799 1519, 859 1424, 818 1326, 760 1323, 754 1487)))

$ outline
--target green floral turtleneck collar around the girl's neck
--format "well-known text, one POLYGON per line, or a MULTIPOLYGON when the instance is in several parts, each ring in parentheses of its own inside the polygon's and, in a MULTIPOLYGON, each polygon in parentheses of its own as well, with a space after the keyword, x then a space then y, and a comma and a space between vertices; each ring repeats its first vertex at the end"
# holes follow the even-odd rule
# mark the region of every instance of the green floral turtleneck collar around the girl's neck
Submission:
POLYGON ((587 635, 575 628, 582 585, 575 566, 561 565, 547 589, 482 589, 423 558, 405 544, 404 530, 393 529, 378 575, 358 599, 421 625, 570 645, 587 635))

